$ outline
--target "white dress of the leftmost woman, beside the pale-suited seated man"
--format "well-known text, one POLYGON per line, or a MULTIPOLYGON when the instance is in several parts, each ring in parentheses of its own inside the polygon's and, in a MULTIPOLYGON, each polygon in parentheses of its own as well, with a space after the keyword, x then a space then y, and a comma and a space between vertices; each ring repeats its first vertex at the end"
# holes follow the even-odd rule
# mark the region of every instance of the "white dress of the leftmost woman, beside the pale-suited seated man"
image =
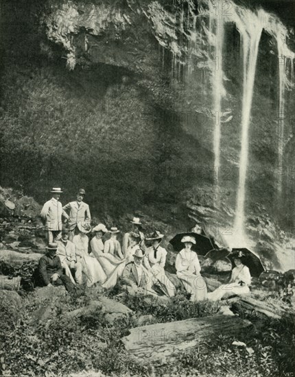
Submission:
POLYGON ((88 236, 77 234, 73 236, 73 243, 76 247, 77 261, 82 263, 83 272, 87 276, 87 287, 91 287, 95 282, 104 282, 106 274, 102 266, 93 254, 88 254, 88 236))

